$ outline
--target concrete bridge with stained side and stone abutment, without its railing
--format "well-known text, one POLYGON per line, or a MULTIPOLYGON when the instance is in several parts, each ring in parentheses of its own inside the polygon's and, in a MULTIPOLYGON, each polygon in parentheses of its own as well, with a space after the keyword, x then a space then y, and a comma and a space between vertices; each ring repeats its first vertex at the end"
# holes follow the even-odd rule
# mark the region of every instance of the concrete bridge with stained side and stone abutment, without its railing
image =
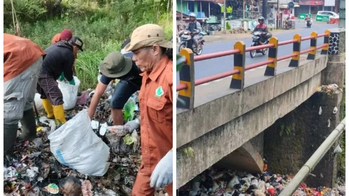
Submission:
MULTIPOLYGON (((270 172, 297 173, 339 123, 342 94, 317 93, 321 85, 343 88, 345 29, 330 31, 328 52, 300 55, 297 67, 286 59, 271 76, 261 69, 269 64, 246 71, 243 89, 229 88, 231 76, 191 89, 192 107, 177 108, 177 189, 214 164, 261 173, 265 158, 270 172)), ((314 170, 325 178, 309 182, 332 187, 335 157, 329 153, 314 170)))

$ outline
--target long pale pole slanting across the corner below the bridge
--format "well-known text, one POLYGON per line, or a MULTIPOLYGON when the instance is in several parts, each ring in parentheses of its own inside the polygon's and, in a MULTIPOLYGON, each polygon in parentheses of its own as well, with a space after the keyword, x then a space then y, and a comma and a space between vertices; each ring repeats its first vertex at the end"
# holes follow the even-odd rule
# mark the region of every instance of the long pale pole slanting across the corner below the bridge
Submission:
POLYGON ((281 191, 279 196, 291 196, 298 188, 299 184, 302 183, 304 178, 313 171, 315 166, 319 163, 322 157, 325 156, 331 146, 337 141, 337 139, 343 133, 346 127, 346 118, 332 131, 331 134, 326 138, 319 148, 313 153, 313 155, 306 161, 304 166, 300 168, 295 177, 288 183, 288 185, 281 191))

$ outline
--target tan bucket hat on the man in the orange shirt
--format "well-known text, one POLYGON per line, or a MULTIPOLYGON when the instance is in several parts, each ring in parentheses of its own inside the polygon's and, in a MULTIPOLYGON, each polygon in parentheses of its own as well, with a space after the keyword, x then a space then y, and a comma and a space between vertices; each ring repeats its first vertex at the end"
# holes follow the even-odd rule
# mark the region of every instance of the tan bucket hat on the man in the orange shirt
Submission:
POLYGON ((139 48, 158 45, 172 48, 172 42, 165 39, 165 31, 156 24, 144 24, 136 28, 131 35, 131 42, 125 46, 125 51, 135 51, 139 48))

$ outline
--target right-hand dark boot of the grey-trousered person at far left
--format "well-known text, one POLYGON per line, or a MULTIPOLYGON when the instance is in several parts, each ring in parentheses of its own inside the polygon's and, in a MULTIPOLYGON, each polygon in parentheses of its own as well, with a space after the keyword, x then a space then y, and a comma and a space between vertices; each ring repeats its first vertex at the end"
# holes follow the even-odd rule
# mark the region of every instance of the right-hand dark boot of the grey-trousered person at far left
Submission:
POLYGON ((22 140, 34 140, 36 138, 36 122, 33 108, 23 112, 21 124, 22 134, 19 137, 22 140))

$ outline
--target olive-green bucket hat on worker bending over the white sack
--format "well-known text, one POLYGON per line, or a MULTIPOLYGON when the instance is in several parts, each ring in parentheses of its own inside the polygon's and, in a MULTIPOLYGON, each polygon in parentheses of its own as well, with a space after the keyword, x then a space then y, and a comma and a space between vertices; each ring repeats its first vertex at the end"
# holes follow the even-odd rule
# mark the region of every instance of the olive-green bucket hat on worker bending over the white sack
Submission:
POLYGON ((103 62, 99 64, 99 71, 111 78, 118 78, 126 75, 132 68, 132 59, 122 55, 118 51, 108 54, 103 62))

